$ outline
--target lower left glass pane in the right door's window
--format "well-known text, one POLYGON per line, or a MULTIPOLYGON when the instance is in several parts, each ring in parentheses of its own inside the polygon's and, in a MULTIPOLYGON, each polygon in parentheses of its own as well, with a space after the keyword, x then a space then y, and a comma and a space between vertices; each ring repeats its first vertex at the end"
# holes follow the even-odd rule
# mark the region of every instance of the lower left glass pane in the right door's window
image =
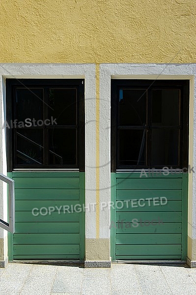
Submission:
POLYGON ((119 130, 120 165, 145 165, 146 130, 119 130))

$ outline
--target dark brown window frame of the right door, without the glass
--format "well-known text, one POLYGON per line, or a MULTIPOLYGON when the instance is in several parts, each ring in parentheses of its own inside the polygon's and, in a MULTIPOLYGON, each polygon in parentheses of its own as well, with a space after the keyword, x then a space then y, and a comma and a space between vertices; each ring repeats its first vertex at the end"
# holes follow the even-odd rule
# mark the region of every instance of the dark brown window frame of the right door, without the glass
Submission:
MULTIPOLYGON (((168 165, 120 165, 119 164, 119 136, 118 136, 118 129, 141 129, 144 128, 148 130, 148 143, 147 143, 147 162, 150 163, 150 140, 151 140, 151 126, 149 123, 147 126, 119 126, 118 120, 118 105, 119 105, 119 89, 146 89, 151 92, 152 89, 158 88, 177 88, 181 89, 181 116, 180 116, 180 143, 178 145, 179 148, 179 163, 178 165, 171 165, 172 168, 185 168, 188 167, 188 150, 189 150, 189 88, 190 88, 190 81, 189 80, 124 80, 124 79, 112 79, 111 80, 111 172, 116 172, 116 170, 135 170, 135 169, 148 169, 148 168, 155 168, 155 169, 162 169, 168 165)), ((149 101, 147 105, 147 120, 150 118, 151 108, 151 97, 148 97, 149 101), (149 112, 150 111, 150 112, 149 112)), ((160 129, 164 129, 163 127, 158 127, 160 129)), ((173 128, 173 126, 172 126, 173 128)))

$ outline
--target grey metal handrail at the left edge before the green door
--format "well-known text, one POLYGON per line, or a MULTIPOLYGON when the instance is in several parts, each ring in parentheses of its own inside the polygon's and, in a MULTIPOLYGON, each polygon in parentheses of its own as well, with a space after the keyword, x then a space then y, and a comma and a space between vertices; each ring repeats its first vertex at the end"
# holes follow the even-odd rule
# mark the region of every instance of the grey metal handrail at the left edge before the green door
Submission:
POLYGON ((14 180, 0 174, 0 180, 8 184, 8 214, 9 223, 0 219, 0 227, 12 234, 15 233, 15 190, 14 190, 14 180))

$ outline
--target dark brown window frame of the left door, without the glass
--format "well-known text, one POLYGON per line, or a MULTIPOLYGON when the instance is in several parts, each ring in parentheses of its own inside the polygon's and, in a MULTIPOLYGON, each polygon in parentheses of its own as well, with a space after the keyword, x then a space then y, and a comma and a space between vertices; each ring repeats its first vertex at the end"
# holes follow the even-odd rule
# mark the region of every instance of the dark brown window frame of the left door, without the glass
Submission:
MULTIPOLYGON (((77 89, 77 163, 76 165, 16 165, 15 128, 6 128, 7 171, 14 169, 79 169, 84 172, 84 79, 6 79, 6 121, 16 118, 16 89, 17 88, 71 88, 77 89)), ((44 98, 44 117, 47 118, 48 107, 44 98)), ((31 128, 31 127, 28 127, 31 128)), ((39 128, 39 127, 36 127, 39 128)), ((44 126, 45 130, 53 128, 70 128, 70 125, 44 126)), ((22 129, 22 128, 20 128, 22 129)), ((47 131, 48 132, 48 131, 47 131)), ((46 134, 46 133, 45 133, 46 134)), ((45 135, 44 135, 45 136, 45 135)), ((48 141, 46 141, 46 146, 48 141)), ((45 146, 44 146, 45 148, 45 146)), ((46 147, 47 149, 47 147, 46 147)), ((44 153, 45 154, 45 153, 44 153)), ((45 155, 46 156, 46 155, 45 155)), ((44 157, 45 157, 44 156, 44 157)), ((44 158, 44 163, 46 158, 44 158)))

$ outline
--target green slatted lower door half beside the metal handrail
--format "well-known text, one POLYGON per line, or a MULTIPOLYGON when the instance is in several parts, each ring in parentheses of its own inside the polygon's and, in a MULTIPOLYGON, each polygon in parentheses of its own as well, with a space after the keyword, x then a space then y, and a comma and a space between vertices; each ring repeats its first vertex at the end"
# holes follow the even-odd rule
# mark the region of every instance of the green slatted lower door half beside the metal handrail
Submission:
POLYGON ((13 172, 12 178, 16 232, 9 235, 9 260, 83 260, 84 173, 13 172))

